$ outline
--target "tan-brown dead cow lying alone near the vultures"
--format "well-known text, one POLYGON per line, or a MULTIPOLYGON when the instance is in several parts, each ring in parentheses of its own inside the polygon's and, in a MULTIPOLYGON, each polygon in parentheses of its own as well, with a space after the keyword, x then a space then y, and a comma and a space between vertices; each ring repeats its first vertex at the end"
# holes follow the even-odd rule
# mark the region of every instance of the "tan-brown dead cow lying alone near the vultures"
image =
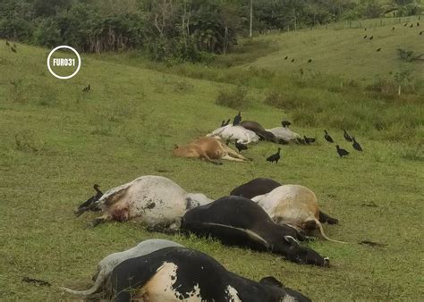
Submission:
POLYGON ((174 147, 173 153, 178 157, 200 158, 213 164, 218 164, 216 160, 220 159, 235 162, 248 160, 243 155, 238 154, 232 148, 226 146, 218 138, 198 138, 186 146, 174 147))

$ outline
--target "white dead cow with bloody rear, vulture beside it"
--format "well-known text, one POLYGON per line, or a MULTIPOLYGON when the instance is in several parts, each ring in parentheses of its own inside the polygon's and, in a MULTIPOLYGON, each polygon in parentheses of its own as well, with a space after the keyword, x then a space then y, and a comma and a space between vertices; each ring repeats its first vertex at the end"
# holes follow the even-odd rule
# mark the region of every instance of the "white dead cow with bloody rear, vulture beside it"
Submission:
POLYGON ((103 215, 93 222, 115 220, 136 221, 148 226, 171 226, 179 222, 185 212, 211 201, 200 193, 188 193, 173 180, 162 176, 141 176, 114 189, 109 189, 94 203, 103 215))

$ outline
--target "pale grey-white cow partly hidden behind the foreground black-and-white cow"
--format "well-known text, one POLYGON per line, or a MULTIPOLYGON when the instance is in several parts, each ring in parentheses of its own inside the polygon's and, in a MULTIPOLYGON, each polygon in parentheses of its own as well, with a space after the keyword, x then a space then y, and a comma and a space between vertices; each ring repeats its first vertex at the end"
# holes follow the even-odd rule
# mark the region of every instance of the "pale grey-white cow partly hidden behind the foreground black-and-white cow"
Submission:
POLYGON ((159 249, 165 247, 182 247, 181 244, 178 244, 171 240, 166 239, 149 239, 139 243, 136 247, 132 247, 123 252, 118 252, 106 256, 98 263, 98 271, 93 277, 95 280, 94 285, 87 290, 74 290, 68 288, 62 288, 65 291, 71 293, 72 295, 81 296, 81 297, 89 297, 98 291, 104 290, 106 285, 106 281, 109 279, 110 274, 114 270, 114 267, 118 264, 121 264, 123 261, 139 257, 145 256, 150 253, 156 252, 159 249))

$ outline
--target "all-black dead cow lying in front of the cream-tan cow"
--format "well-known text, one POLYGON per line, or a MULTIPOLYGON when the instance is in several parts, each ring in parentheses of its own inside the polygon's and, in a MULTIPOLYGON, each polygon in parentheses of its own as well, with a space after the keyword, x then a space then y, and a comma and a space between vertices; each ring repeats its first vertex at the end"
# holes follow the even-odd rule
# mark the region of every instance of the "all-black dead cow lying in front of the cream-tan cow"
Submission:
POLYGON ((181 229, 219 239, 226 245, 279 254, 298 264, 329 264, 328 258, 301 247, 298 240, 305 239, 301 232, 276 224, 262 207, 244 197, 222 197, 192 208, 184 214, 181 229))

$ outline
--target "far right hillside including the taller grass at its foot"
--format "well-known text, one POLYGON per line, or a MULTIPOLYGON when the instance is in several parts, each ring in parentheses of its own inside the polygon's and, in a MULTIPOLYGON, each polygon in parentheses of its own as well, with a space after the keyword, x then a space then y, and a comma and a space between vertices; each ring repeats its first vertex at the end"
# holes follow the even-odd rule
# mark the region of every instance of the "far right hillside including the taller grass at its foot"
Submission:
POLYGON ((424 24, 417 27, 417 22, 418 16, 335 23, 242 39, 235 53, 206 65, 151 63, 137 53, 93 57, 259 89, 259 96, 250 97, 242 109, 263 102, 283 109, 298 126, 346 128, 420 149, 424 138, 424 32, 420 35, 420 31, 424 24), (397 49, 411 52, 417 60, 402 59, 397 49))

